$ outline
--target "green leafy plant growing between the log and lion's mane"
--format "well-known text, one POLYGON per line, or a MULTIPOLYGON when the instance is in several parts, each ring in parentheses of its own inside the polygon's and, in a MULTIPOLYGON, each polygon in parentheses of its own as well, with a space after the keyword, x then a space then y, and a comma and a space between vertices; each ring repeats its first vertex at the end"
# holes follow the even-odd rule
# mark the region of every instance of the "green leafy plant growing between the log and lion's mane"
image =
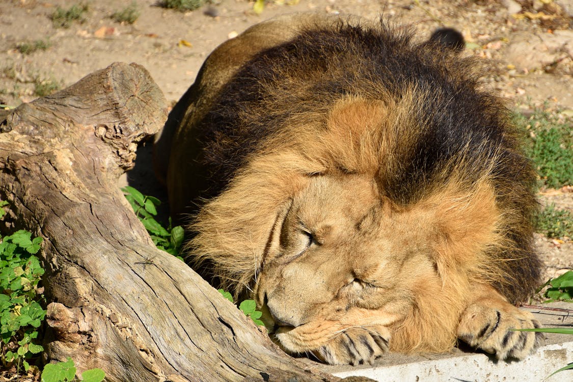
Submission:
POLYGON ((181 226, 172 227, 171 219, 169 219, 167 228, 164 228, 154 218, 157 215, 156 207, 161 204, 160 200, 153 196, 144 196, 131 186, 121 188, 121 191, 123 191, 125 198, 134 209, 135 215, 138 216, 143 226, 150 233, 155 246, 183 260, 179 256, 179 251, 185 238, 183 228, 181 226))

